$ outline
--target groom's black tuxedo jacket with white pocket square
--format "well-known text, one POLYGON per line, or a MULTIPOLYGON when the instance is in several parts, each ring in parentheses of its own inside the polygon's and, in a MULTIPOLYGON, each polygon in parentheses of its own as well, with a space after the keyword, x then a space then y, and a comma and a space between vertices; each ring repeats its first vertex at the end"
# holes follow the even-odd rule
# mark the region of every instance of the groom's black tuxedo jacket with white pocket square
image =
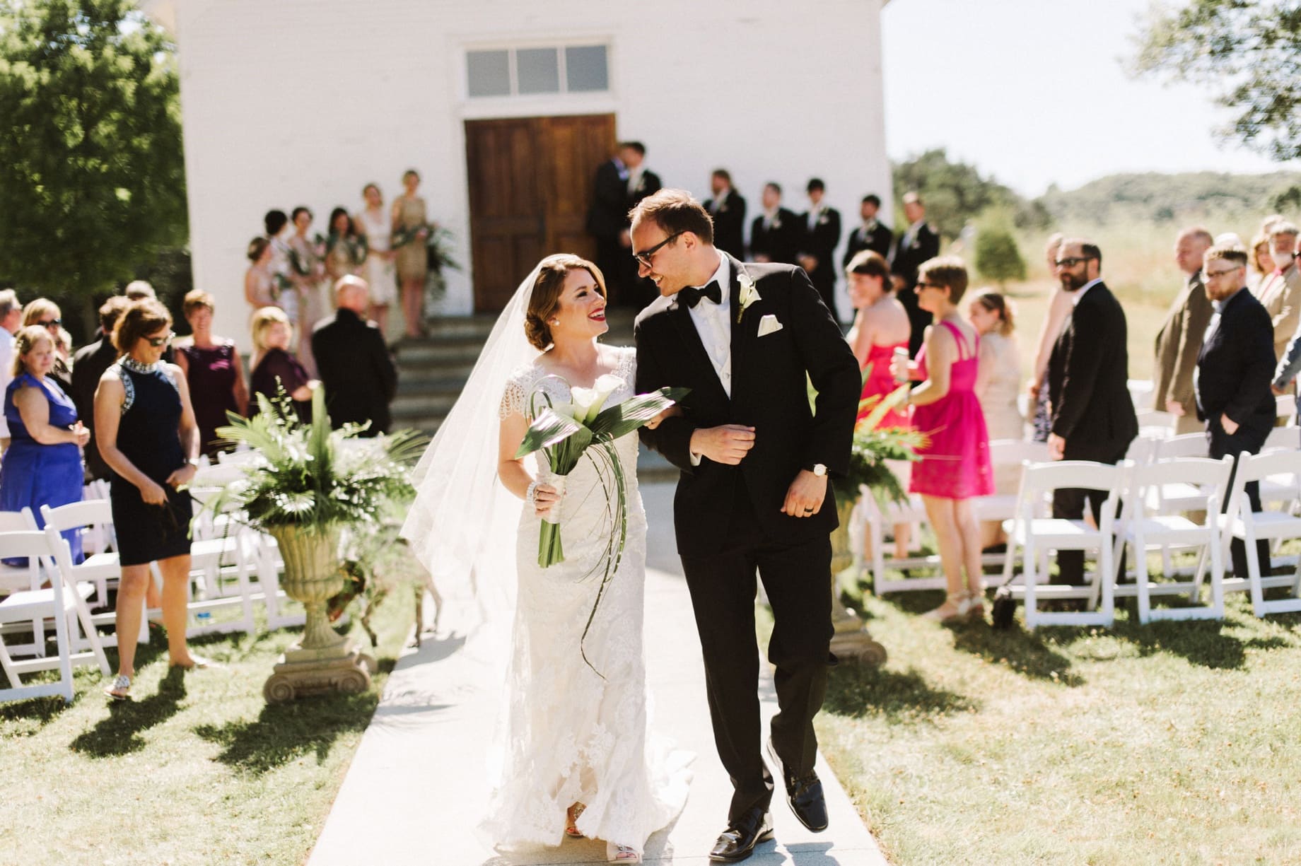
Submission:
MULTIPOLYGON (((727 254, 723 254, 727 255, 727 254)), ((705 354, 691 312, 674 296, 661 296, 637 316, 637 393, 684 386, 680 417, 657 429, 641 429, 643 441, 682 469, 674 499, 678 553, 718 553, 726 540, 738 484, 766 538, 800 544, 837 527, 835 498, 827 486, 822 507, 812 518, 782 514, 786 490, 800 469, 817 463, 834 475, 850 466, 857 413, 859 364, 839 326, 801 268, 781 264, 742 264, 732 256, 731 398, 705 354), (738 276, 744 268, 760 299, 740 316, 738 276), (775 316, 781 330, 758 335, 764 316, 775 316), (817 391, 809 407, 807 381, 817 391), (755 428, 755 447, 739 466, 708 458, 691 466, 691 434, 697 428, 744 424, 755 428)), ((701 302, 708 303, 708 302, 701 302)))

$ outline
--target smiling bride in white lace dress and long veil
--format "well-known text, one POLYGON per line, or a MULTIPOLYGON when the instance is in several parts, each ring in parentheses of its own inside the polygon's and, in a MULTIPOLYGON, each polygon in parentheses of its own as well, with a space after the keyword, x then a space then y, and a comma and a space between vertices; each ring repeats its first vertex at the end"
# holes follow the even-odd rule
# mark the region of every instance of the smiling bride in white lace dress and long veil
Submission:
POLYGON ((515 459, 545 398, 569 403, 571 389, 591 387, 604 374, 622 381, 606 406, 632 397, 635 350, 597 343, 609 330, 605 304, 604 278, 591 261, 562 254, 537 264, 422 459, 402 534, 445 594, 468 584, 490 611, 509 596, 502 566, 518 580, 506 703, 490 762, 497 778, 480 830, 506 849, 558 845, 563 836, 601 839, 610 862, 636 863, 649 835, 680 811, 690 783, 690 755, 649 733, 637 434, 615 441, 627 485, 627 541, 595 614, 598 566, 618 529, 606 508, 611 479, 583 459, 559 494, 532 458, 515 459), (552 511, 559 515, 565 560, 541 568, 540 520, 552 511), (510 520, 515 527, 506 529, 510 520), (514 563, 494 566, 493 553, 511 532, 514 563))

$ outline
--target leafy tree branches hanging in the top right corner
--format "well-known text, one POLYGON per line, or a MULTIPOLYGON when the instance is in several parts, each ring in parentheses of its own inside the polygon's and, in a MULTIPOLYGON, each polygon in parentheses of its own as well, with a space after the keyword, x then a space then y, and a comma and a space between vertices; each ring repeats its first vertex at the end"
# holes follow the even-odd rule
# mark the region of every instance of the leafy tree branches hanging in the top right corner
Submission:
POLYGON ((1233 109, 1219 130, 1271 159, 1301 157, 1301 4, 1296 0, 1187 0, 1154 7, 1133 70, 1215 90, 1233 109))

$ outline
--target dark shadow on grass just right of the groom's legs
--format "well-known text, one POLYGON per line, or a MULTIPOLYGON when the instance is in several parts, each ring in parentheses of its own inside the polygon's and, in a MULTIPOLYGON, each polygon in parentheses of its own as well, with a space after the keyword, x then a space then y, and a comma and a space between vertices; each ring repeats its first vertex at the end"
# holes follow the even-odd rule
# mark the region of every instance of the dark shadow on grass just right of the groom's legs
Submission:
POLYGON ((838 667, 827 680, 822 709, 850 718, 879 713, 890 722, 948 715, 978 709, 965 694, 937 689, 916 668, 905 674, 885 668, 838 667))

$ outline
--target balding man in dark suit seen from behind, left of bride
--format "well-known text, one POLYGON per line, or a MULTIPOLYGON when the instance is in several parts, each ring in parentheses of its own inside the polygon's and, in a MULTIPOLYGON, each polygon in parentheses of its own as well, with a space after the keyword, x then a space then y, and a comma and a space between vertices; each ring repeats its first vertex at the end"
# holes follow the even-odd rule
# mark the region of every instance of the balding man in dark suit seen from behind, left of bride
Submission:
POLYGON ((379 325, 366 319, 371 290, 360 277, 334 283, 334 315, 312 332, 312 355, 325 387, 325 407, 334 429, 371 423, 362 436, 389 432, 389 403, 397 394, 398 371, 379 325))

